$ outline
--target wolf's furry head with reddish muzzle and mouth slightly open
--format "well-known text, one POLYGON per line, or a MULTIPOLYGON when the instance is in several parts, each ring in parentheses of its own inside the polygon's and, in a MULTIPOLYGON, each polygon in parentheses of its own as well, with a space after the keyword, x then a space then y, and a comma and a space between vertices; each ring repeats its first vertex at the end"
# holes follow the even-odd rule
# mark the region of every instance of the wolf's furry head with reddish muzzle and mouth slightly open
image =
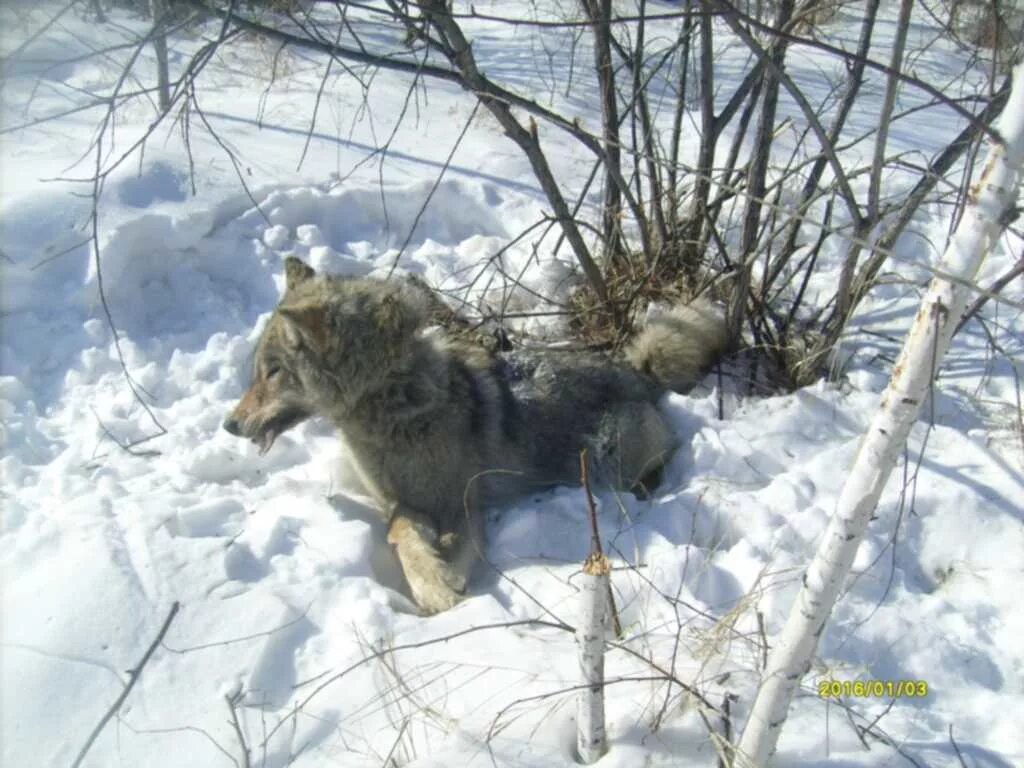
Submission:
POLYGON ((224 429, 269 451, 311 416, 343 419, 411 352, 425 311, 397 283, 317 275, 285 260, 285 295, 256 345, 252 383, 224 429))

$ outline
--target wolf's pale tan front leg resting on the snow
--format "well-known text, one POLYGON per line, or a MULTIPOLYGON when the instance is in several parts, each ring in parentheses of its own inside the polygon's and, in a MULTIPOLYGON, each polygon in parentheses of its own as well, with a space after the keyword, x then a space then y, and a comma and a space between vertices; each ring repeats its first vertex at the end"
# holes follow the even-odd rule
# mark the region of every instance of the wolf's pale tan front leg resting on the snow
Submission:
POLYGON ((397 551, 413 599, 425 613, 447 610, 462 599, 466 573, 441 556, 437 528, 424 515, 397 512, 387 540, 397 551))

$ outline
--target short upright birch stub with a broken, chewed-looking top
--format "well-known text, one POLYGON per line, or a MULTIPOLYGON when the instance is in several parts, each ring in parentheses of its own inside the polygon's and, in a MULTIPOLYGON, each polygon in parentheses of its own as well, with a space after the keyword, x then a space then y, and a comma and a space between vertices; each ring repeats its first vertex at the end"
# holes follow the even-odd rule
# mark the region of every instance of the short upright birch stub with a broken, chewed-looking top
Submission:
POLYGON ((577 751, 590 765, 608 751, 604 734, 604 633, 608 626, 608 558, 592 552, 583 564, 577 649, 584 687, 577 698, 577 751))

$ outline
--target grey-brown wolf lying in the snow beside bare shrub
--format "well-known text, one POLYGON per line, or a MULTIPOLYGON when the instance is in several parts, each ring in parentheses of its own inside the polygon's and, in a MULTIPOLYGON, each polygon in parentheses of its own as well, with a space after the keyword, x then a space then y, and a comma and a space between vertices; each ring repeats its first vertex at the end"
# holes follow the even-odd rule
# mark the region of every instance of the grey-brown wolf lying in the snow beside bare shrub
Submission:
MULTIPOLYGON (((261 453, 311 417, 342 434, 424 613, 454 606, 483 546, 483 511, 591 476, 647 494, 676 447, 657 401, 724 350, 708 305, 649 323, 620 358, 485 350, 431 332, 422 286, 285 261, 252 383, 224 429, 261 453)), ((439 300, 433 297, 433 302, 439 300)))

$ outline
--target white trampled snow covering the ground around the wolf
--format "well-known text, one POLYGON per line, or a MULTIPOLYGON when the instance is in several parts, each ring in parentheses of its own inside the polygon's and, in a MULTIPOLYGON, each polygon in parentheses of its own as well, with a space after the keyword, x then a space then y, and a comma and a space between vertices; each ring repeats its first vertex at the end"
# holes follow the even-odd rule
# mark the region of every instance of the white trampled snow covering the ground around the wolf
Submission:
MULTIPOLYGON (((60 7, 5 4, 4 52, 60 7)), ((178 603, 85 765, 243 765, 243 740, 248 764, 266 768, 572 765, 577 662, 559 625, 574 623, 589 546, 579 489, 495 511, 490 567, 469 599, 424 618, 401 596, 382 526, 346 482, 327 425, 306 423, 263 457, 220 429, 285 256, 354 274, 397 261, 436 286, 475 280, 475 295, 498 301, 508 279, 485 262, 547 208, 526 160, 466 94, 436 82, 411 92, 396 73, 361 73, 364 91, 336 65, 310 128, 323 62, 286 50, 274 73, 274 46, 238 40, 197 82, 188 142, 162 124, 102 184, 100 275, 92 185, 80 179, 94 172, 103 111, 73 108, 115 83, 132 51, 86 54, 145 26, 80 12, 22 51, 0 92, 0 762, 72 764, 178 603)), ((837 24, 855 37, 851 16, 837 24)), ((593 93, 566 91, 568 33, 470 29, 496 79, 599 124, 593 93)), ((172 71, 218 30, 172 38, 172 71)), ((577 55, 590 60, 585 48, 577 55)), ((940 40, 914 71, 945 85, 956 56, 940 40)), ((721 51, 722 81, 743 60, 721 51)), ((795 54, 791 74, 824 88, 823 61, 795 54)), ((124 87, 155 82, 148 48, 136 77, 124 87)), ((785 99, 782 109, 798 115, 785 99)), ((103 163, 156 114, 145 98, 119 110, 103 163)), ((959 126, 940 118, 898 123, 892 153, 941 147, 959 126)), ((582 150, 550 127, 542 138, 559 177, 582 185, 582 150)), ((878 290, 858 317, 870 334, 856 338, 842 385, 729 395, 724 420, 713 380, 670 395, 683 447, 655 497, 600 496, 624 628, 606 662, 611 750, 600 765, 715 764, 699 707, 666 671, 716 707, 731 696, 742 724, 762 634, 780 628, 824 529, 927 279, 912 262, 934 259, 946 213, 930 210, 900 243, 909 280, 878 290)), ((504 272, 564 297, 571 264, 550 256, 553 237, 535 256, 538 238, 502 254, 504 272)), ((1004 242, 982 282, 1020 253, 1019 240, 1004 242)), ((823 271, 822 286, 833 279, 823 271)), ((1019 281, 1007 296, 1020 304, 1019 281)), ((528 292, 515 300, 537 304, 528 292)), ((919 425, 883 497, 781 737, 781 766, 1024 764, 1024 317, 1009 304, 985 314, 1002 351, 977 324, 955 340, 935 425, 919 425), (851 697, 847 709, 817 695, 833 679, 920 680, 928 694, 851 697), (862 736, 869 723, 876 735, 862 736)), ((550 321, 527 330, 558 332, 550 321)))

